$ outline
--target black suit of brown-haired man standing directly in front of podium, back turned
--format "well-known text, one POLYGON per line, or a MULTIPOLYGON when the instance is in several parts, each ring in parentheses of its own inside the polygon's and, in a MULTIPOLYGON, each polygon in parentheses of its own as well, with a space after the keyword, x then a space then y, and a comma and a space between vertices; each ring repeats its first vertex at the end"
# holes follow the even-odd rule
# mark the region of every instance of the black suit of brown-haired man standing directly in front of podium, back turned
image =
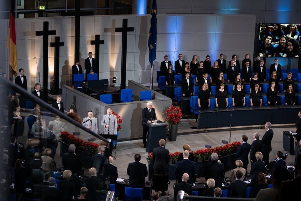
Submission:
POLYGON ((153 161, 155 174, 168 174, 169 151, 164 147, 153 149, 153 161))

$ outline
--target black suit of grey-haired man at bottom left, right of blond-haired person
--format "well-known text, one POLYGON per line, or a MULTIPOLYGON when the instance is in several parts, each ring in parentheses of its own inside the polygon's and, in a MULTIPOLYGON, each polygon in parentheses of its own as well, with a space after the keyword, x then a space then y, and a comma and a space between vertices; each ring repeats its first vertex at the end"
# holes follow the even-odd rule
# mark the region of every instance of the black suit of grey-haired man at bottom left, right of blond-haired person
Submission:
MULTIPOLYGON (((86 188, 88 189, 88 193, 85 198, 89 200, 101 200, 101 195, 96 191, 102 190, 101 188, 101 180, 96 176, 92 176, 90 178, 85 178, 84 183, 86 188)), ((106 190, 106 189, 104 189, 106 190)))

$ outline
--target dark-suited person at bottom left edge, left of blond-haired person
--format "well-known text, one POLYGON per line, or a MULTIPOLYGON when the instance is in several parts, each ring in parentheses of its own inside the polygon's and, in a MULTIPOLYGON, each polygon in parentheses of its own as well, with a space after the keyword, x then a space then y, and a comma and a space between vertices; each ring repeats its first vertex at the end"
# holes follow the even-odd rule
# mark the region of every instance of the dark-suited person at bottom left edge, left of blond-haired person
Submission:
POLYGON ((63 192, 55 188, 55 178, 48 178, 49 187, 41 190, 41 199, 46 200, 63 200, 63 192))

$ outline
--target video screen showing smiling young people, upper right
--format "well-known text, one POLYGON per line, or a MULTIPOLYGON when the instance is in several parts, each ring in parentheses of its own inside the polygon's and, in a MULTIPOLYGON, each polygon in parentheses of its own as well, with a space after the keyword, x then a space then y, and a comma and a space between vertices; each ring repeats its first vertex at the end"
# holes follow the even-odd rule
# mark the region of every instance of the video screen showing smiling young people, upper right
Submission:
POLYGON ((257 54, 260 57, 299 57, 301 24, 260 23, 257 54))

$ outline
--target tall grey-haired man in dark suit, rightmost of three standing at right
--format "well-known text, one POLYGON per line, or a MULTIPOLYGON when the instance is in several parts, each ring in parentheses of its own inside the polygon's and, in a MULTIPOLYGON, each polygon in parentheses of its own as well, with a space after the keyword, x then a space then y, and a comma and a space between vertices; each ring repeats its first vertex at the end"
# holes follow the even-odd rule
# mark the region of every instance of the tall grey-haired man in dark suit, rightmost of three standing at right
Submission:
POLYGON ((265 165, 269 164, 269 154, 272 151, 272 139, 274 136, 274 131, 272 130, 272 124, 270 122, 265 123, 266 132, 262 137, 262 148, 261 153, 263 155, 262 160, 265 161, 265 165))

